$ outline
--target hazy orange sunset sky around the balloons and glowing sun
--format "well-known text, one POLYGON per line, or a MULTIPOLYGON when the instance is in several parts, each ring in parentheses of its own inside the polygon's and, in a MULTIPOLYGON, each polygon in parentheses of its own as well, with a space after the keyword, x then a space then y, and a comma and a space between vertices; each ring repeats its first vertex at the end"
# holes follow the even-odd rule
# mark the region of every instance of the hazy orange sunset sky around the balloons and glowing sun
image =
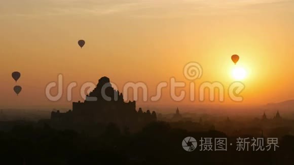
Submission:
MULTIPOLYGON (((230 59, 247 71, 242 80, 244 101, 238 105, 266 104, 294 98, 294 1, 119 1, 119 0, 1 0, 0 108, 68 107, 66 95, 48 101, 45 87, 63 74, 64 91, 76 81, 80 87, 108 76, 122 89, 128 81, 142 81, 149 96, 161 81, 175 77, 190 81, 183 67, 196 61, 203 76, 227 90, 235 80, 230 59), (85 39, 79 48, 77 42, 85 39), (17 83, 13 71, 21 72, 17 83), (22 86, 19 96, 15 85, 22 86)), ((197 88, 197 87, 196 87, 197 88)), ((188 90, 188 88, 185 88, 188 90)), ((56 92, 56 90, 55 90, 56 92)), ((54 90, 52 91, 54 93, 54 90)), ((197 91, 196 91, 197 94, 197 91)), ((197 98, 197 95, 196 95, 197 98)), ((212 102, 214 104, 219 102, 212 102)), ((225 98, 223 104, 231 104, 225 98)), ((156 103, 174 102, 169 88, 156 103)))

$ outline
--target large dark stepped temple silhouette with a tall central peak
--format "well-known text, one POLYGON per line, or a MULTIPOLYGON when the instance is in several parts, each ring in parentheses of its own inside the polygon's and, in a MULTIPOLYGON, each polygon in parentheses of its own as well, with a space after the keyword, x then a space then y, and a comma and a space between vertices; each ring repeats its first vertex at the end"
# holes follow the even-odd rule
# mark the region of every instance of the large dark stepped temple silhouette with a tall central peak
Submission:
POLYGON ((53 127, 76 129, 97 123, 115 123, 121 129, 138 130, 156 121, 156 112, 136 111, 136 102, 125 102, 123 94, 115 90, 108 77, 101 77, 96 88, 87 95, 84 102, 72 102, 72 110, 65 113, 51 112, 53 127))

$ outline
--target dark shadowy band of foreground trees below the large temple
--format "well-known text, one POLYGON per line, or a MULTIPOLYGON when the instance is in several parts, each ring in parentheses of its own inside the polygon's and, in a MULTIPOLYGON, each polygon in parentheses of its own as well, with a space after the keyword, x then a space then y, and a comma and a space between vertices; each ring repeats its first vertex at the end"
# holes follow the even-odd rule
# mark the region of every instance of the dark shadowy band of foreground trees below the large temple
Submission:
MULTIPOLYGON (((100 128, 101 129, 101 128, 100 128)), ((109 124, 102 133, 55 130, 31 123, 0 132, 0 164, 293 164, 294 137, 279 139, 276 151, 183 150, 187 136, 227 137, 218 131, 188 132, 154 122, 137 133, 109 124)), ((236 137, 227 137, 228 144, 236 137)), ((199 143, 198 143, 199 144, 199 143)))

